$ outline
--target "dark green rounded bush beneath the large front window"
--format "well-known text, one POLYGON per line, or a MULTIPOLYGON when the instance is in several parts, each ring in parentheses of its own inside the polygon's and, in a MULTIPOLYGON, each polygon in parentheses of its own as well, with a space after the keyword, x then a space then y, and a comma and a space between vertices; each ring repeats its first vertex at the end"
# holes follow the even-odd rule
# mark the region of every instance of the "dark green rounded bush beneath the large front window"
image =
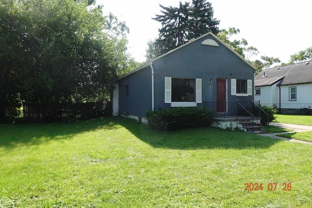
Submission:
POLYGON ((153 130, 174 131, 211 125, 213 113, 204 108, 180 107, 148 111, 146 118, 153 130))

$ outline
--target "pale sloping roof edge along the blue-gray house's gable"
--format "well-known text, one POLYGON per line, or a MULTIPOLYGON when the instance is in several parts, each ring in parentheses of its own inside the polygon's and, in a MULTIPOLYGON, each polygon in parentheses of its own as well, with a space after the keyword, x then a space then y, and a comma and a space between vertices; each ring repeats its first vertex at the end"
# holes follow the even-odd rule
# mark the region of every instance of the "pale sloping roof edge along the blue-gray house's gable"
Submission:
MULTIPOLYGON (((181 45, 180 47, 178 47, 178 48, 176 48, 176 49, 173 49, 173 50, 171 50, 171 51, 169 51, 169 52, 167 52, 167 53, 165 53, 165 54, 163 54, 163 55, 161 55, 161 56, 159 56, 159 57, 156 57, 156 58, 154 58, 153 60, 150 60, 150 61, 144 63, 143 65, 139 66, 138 68, 136 68, 136 69, 134 69, 134 70, 132 70, 132 71, 126 73, 125 75, 121 76, 119 79, 121 79, 121 78, 123 78, 123 77, 125 77, 125 76, 129 76, 129 75, 131 75, 131 74, 133 74, 133 73, 135 73, 135 72, 137 72, 137 71, 139 71, 139 70, 141 70, 141 69, 144 69, 144 68, 146 68, 147 66, 150 66, 151 64, 153 64, 153 61, 155 61, 155 60, 157 60, 157 59, 159 59, 159 58, 161 58, 161 57, 167 56, 168 54, 171 54, 171 53, 175 52, 176 50, 179 50, 180 48, 182 48, 182 47, 184 47, 184 46, 186 46, 186 45, 188 45, 188 44, 192 44, 195 40, 198 40, 198 39, 200 39, 200 38, 204 38, 204 37, 209 36, 209 35, 211 35, 213 38, 215 38, 217 41, 219 41, 222 45, 224 45, 226 48, 228 48, 230 51, 232 51, 237 57, 241 58, 245 63, 247 63, 249 66, 251 66, 251 67, 254 69, 254 71, 256 71, 256 68, 255 68, 249 61, 247 61, 244 57, 240 56, 236 51, 234 51, 230 46, 228 46, 225 42, 223 42, 223 41, 222 41, 220 38, 218 38, 215 34, 213 34, 212 32, 209 32, 209 33, 207 33, 207 34, 205 34, 205 35, 202 35, 202 36, 200 36, 200 37, 198 37, 198 38, 196 38, 196 39, 192 39, 192 40, 190 40, 189 42, 187 42, 187 43, 181 45)), ((213 41, 214 41, 214 40, 213 40, 213 41)), ((215 42, 215 43, 216 43, 216 42, 215 42)), ((214 45, 215 43, 209 43, 209 44, 210 44, 210 45, 214 45)), ((216 43, 216 44, 217 44, 217 43, 216 43)))

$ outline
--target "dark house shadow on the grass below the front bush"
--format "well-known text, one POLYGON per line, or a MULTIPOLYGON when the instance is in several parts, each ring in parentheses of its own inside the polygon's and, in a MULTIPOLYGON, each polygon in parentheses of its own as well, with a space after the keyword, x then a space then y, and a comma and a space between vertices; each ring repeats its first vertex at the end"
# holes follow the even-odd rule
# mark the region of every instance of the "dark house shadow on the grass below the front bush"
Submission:
POLYGON ((154 148, 177 150, 195 149, 266 149, 281 141, 249 132, 228 132, 214 127, 187 129, 175 132, 152 131, 148 125, 120 120, 141 141, 154 148))

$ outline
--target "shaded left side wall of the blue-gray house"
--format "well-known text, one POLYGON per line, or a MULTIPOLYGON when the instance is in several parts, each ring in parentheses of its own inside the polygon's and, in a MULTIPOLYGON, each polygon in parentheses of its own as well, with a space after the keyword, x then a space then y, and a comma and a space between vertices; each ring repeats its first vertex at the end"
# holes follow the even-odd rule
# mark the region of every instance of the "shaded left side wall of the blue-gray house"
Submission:
POLYGON ((120 79, 119 87, 119 113, 145 116, 146 110, 152 110, 152 72, 149 66, 120 79))

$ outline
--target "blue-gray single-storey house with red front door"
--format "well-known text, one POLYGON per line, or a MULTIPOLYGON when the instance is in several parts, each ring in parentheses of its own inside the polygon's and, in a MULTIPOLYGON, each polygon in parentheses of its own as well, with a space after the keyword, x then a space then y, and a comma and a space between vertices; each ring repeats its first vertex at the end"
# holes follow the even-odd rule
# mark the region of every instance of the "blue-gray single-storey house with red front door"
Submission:
POLYGON ((145 122, 147 110, 204 107, 254 100, 254 66, 208 33, 122 76, 113 95, 113 115, 145 122))

